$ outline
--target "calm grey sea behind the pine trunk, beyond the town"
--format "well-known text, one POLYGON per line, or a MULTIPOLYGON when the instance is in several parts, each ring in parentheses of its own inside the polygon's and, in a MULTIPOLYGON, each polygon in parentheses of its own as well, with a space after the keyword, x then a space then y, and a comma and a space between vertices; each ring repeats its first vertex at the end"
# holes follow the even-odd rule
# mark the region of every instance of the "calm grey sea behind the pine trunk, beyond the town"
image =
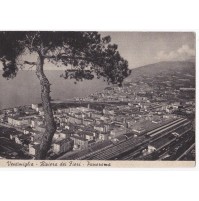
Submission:
MULTIPOLYGON (((13 79, 7 80, 0 71, 0 110, 17 106, 41 103, 41 87, 35 71, 21 70, 13 79)), ((51 83, 51 98, 65 101, 74 97, 86 97, 102 91, 108 86, 102 79, 84 80, 74 83, 73 79, 60 77, 61 70, 46 70, 51 83)))

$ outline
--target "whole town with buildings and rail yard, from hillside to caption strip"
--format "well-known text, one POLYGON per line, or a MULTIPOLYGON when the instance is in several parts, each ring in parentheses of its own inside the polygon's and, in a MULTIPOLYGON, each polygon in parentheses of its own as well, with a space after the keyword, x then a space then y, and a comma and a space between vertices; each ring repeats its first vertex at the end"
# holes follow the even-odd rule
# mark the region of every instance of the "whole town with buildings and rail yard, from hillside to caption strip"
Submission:
MULTIPOLYGON (((52 107, 49 160, 195 160, 191 73, 128 78, 52 107)), ((41 104, 1 110, 0 159, 34 159, 44 131, 41 104)))

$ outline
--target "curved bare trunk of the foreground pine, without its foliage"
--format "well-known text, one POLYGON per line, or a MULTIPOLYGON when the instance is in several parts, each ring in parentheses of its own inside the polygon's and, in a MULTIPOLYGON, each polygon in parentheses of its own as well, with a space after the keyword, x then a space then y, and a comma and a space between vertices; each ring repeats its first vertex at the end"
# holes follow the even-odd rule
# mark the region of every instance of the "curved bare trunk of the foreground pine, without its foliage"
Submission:
POLYGON ((53 135, 56 131, 56 124, 53 117, 52 107, 50 103, 50 83, 43 71, 44 58, 39 55, 37 59, 36 75, 41 85, 41 100, 44 110, 46 130, 42 136, 39 151, 36 153, 36 159, 46 159, 50 149, 53 135))

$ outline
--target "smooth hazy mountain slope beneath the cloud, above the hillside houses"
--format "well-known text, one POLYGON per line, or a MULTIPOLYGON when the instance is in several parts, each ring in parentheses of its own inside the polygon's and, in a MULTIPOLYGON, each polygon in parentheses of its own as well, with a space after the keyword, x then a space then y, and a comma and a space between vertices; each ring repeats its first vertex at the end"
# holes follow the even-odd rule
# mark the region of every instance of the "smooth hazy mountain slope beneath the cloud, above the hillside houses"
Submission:
POLYGON ((170 74, 181 71, 195 75, 195 62, 192 61, 162 61, 132 69, 127 80, 136 79, 140 76, 154 77, 158 74, 170 74))

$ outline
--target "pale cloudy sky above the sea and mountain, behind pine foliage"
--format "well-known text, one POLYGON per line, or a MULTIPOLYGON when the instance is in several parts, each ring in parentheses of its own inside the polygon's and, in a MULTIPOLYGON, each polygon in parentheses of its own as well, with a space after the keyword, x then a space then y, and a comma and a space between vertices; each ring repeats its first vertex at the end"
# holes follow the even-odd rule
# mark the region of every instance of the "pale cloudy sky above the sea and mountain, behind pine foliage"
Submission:
MULTIPOLYGON (((160 61, 195 58, 195 34, 191 32, 100 32, 100 34, 111 36, 111 42, 118 45, 121 56, 129 62, 131 69, 160 61)), ((45 69, 57 70, 51 63, 47 63, 45 69)))

